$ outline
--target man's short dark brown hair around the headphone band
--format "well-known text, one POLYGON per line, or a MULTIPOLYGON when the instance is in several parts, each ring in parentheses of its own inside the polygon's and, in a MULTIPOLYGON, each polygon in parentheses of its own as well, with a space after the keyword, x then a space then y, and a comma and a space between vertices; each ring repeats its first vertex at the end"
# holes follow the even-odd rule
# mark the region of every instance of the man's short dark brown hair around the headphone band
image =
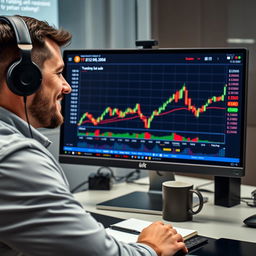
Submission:
MULTIPOLYGON (((19 16, 27 24, 33 44, 32 60, 40 68, 44 62, 51 57, 51 52, 45 45, 45 39, 53 40, 58 46, 65 46, 71 40, 71 34, 63 29, 56 29, 46 21, 35 18, 19 16)), ((6 79, 7 69, 11 63, 20 57, 16 37, 13 29, 6 23, 0 22, 0 89, 2 82, 6 79)))

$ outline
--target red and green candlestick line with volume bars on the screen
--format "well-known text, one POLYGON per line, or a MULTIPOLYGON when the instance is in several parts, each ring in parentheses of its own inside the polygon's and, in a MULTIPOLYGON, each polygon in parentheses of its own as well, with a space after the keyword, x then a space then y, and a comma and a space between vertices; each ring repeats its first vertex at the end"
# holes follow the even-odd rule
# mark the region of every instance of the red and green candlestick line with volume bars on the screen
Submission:
MULTIPOLYGON (((179 132, 163 132, 161 129, 152 129, 152 124, 154 122, 159 122, 157 119, 163 116, 166 118, 164 121, 160 121, 160 123, 166 122, 166 120, 170 118, 170 116, 175 112, 187 112, 187 115, 193 116, 196 120, 200 119, 201 116, 204 115, 204 113, 207 111, 225 111, 226 108, 224 102, 226 94, 227 85, 225 84, 222 88, 222 92, 219 95, 206 98, 202 105, 196 106, 193 103, 193 99, 189 96, 189 90, 187 89, 186 84, 183 84, 179 90, 171 93, 170 97, 165 99, 159 107, 153 109, 151 113, 148 112, 148 115, 143 112, 143 106, 140 103, 136 103, 133 107, 127 107, 126 109, 107 106, 102 110, 99 116, 95 116, 91 112, 85 112, 78 122, 78 127, 87 126, 87 132, 79 131, 78 135, 130 139, 210 142, 210 140, 207 139, 207 134, 204 133, 201 133, 201 136, 199 137, 198 132, 193 133, 192 131, 186 131, 184 133, 184 131, 182 132, 182 130, 180 130, 180 134, 179 132), (123 122, 128 124, 126 129, 133 129, 134 124, 132 122, 134 120, 138 120, 141 123, 141 132, 116 132, 117 128, 125 129, 125 126, 122 127, 121 124, 123 122), (90 131, 88 128, 95 129, 90 131), (106 131, 106 128, 109 129, 109 131, 106 131), (158 135, 152 134, 151 131, 153 133, 157 133, 158 135)), ((215 142, 221 143, 224 140, 224 136, 221 133, 211 134, 211 139, 215 142)))

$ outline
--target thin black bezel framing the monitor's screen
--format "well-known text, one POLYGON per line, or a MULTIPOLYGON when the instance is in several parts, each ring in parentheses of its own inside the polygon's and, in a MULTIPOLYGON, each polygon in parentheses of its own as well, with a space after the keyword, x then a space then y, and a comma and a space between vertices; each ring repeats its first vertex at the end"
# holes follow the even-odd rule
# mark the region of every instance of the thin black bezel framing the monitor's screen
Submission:
MULTIPOLYGON (((66 164, 79 164, 79 165, 96 165, 96 166, 111 166, 119 168, 135 168, 145 170, 157 170, 157 171, 170 171, 177 173, 198 173, 214 176, 227 176, 227 177, 242 177, 245 175, 245 163, 246 163, 246 124, 247 124, 247 97, 248 97, 248 50, 246 48, 158 48, 158 49, 74 49, 64 50, 63 58, 66 60, 66 56, 69 54, 100 54, 100 53, 233 53, 242 52, 246 58, 244 65, 244 88, 243 88, 243 123, 241 123, 241 165, 239 167, 230 167, 218 165, 207 165, 200 163, 179 163, 179 162, 159 162, 159 161, 143 161, 143 160, 130 160, 130 159, 114 159, 104 157, 90 157, 90 156, 78 156, 78 155, 65 155, 61 154, 63 148, 63 134, 64 125, 60 129, 60 147, 59 147, 59 161, 66 164)), ((64 74, 66 67, 64 67, 64 74)), ((62 111, 65 109, 65 98, 62 100, 62 111)))

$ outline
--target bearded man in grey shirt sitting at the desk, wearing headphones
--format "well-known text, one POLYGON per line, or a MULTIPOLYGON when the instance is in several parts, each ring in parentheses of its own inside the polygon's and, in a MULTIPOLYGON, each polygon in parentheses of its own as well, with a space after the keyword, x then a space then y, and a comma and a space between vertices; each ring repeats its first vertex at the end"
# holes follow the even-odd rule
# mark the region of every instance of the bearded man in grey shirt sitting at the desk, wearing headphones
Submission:
POLYGON ((62 76, 60 47, 71 35, 21 18, 30 31, 32 60, 41 69, 42 83, 26 101, 9 89, 6 72, 19 59, 19 50, 10 26, 0 23, 0 255, 186 253, 181 235, 162 222, 144 229, 137 243, 118 242, 73 198, 60 165, 47 150, 49 140, 36 130, 63 122, 60 100, 71 88, 62 76))

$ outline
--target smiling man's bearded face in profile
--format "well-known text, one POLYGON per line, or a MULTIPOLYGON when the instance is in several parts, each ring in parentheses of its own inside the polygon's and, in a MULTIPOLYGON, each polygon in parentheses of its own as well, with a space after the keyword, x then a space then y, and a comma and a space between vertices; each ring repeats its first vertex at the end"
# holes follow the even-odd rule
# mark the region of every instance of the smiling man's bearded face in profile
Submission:
POLYGON ((71 92, 71 87, 62 76, 64 63, 59 46, 52 40, 47 40, 46 45, 52 56, 44 62, 42 84, 28 110, 34 120, 34 127, 56 128, 63 123, 60 101, 64 94, 71 92))

